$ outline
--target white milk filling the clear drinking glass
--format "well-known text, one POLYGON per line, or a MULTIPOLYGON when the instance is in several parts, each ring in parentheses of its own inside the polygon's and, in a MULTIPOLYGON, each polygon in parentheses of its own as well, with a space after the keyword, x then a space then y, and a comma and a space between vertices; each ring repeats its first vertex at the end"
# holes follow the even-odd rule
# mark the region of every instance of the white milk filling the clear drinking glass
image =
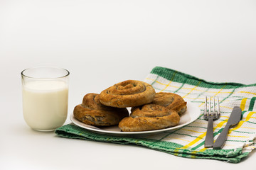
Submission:
POLYGON ((35 130, 59 128, 68 115, 68 85, 63 81, 29 81, 23 86, 23 117, 35 130))

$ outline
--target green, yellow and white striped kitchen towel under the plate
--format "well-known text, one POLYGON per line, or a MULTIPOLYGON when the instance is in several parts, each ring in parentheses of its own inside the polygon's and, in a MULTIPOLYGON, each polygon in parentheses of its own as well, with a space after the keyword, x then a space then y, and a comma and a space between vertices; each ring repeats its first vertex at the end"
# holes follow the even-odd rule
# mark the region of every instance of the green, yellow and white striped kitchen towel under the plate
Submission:
POLYGON ((155 67, 144 80, 156 92, 164 91, 178 94, 185 101, 191 101, 201 108, 201 115, 193 123, 172 132, 162 132, 144 137, 117 137, 100 135, 73 124, 55 130, 60 137, 134 144, 156 149, 178 157, 195 159, 218 159, 238 163, 256 147, 256 84, 213 83, 198 79, 173 69, 155 67), (223 149, 205 148, 207 121, 203 120, 203 103, 206 96, 220 99, 220 119, 213 122, 214 140, 225 127, 234 106, 242 108, 242 119, 230 128, 223 149))

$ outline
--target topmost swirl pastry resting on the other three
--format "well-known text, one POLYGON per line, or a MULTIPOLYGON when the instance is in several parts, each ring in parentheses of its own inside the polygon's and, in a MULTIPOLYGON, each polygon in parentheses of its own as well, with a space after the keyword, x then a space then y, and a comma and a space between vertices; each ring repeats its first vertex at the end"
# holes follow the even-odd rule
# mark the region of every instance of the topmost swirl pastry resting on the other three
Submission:
POLYGON ((156 92, 143 81, 127 80, 110 86, 100 93, 100 102, 105 106, 126 108, 151 103, 156 92))

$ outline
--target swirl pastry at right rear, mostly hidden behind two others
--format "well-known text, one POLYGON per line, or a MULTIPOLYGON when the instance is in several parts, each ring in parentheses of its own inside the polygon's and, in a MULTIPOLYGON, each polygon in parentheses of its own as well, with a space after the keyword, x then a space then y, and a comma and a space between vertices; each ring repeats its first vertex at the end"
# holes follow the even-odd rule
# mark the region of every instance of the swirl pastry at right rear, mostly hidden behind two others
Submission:
POLYGON ((186 111, 186 101, 178 94, 173 93, 156 93, 152 104, 157 104, 178 112, 179 115, 186 111))

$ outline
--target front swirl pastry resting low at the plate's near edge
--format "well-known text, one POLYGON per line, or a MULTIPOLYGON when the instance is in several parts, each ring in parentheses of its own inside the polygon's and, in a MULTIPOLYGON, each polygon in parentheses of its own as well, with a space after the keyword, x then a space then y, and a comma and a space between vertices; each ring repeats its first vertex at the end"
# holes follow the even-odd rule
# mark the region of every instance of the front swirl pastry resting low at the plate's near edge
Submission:
POLYGON ((131 115, 119 123, 119 128, 124 132, 159 130, 178 125, 180 116, 176 111, 164 106, 146 104, 134 108, 131 115))

